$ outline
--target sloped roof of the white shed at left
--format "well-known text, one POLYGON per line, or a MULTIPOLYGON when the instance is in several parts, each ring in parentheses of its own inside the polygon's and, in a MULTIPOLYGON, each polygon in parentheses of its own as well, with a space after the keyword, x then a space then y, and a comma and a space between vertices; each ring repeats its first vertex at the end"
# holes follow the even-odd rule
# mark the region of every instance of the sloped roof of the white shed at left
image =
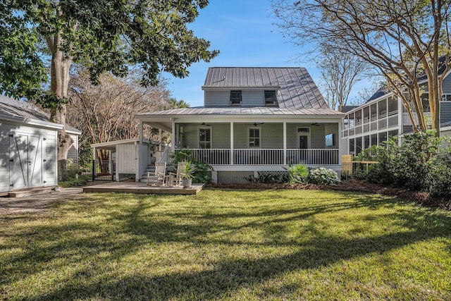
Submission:
MULTIPOLYGON (((49 126, 51 128, 63 128, 58 123, 51 123, 49 121, 49 114, 39 109, 35 104, 12 99, 0 94, 0 119, 2 118, 10 121, 49 126)), ((66 124, 66 132, 81 135, 80 130, 68 124, 66 124)))

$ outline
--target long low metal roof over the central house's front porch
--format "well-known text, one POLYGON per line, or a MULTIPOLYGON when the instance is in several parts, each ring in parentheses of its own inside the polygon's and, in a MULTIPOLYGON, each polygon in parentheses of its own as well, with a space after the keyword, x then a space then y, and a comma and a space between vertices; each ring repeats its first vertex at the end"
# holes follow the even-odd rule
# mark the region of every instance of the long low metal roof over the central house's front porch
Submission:
POLYGON ((167 115, 321 115, 340 116, 344 115, 332 109, 295 109, 278 108, 276 106, 199 106, 185 109, 172 109, 166 111, 156 111, 151 113, 137 114, 140 116, 167 116, 167 115))

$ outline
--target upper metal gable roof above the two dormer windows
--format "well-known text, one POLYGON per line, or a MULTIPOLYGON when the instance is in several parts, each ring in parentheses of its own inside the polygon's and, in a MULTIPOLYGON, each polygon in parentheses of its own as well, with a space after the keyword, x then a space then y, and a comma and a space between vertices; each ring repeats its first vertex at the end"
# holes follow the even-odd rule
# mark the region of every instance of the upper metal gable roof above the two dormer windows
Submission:
POLYGON ((328 109, 326 101, 305 68, 211 67, 206 73, 202 90, 239 90, 252 87, 279 90, 279 108, 328 109))

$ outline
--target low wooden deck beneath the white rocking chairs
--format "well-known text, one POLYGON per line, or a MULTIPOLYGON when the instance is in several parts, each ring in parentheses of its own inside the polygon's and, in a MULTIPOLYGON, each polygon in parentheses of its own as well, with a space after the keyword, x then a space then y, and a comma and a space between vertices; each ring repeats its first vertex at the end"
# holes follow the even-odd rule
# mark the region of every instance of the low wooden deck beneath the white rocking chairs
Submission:
POLYGON ((204 184, 193 184, 190 188, 149 186, 141 182, 110 182, 83 188, 83 192, 126 192, 147 193, 156 195, 197 195, 204 184))

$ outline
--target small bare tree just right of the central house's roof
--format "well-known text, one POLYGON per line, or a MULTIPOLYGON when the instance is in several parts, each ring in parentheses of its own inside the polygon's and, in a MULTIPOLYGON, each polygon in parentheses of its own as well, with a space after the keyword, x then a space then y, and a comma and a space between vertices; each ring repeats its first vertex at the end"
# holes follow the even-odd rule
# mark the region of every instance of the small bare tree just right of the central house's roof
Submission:
POLYGON ((365 72, 365 63, 349 52, 337 51, 330 43, 321 45, 323 59, 317 63, 321 68, 326 102, 331 109, 343 111, 352 87, 365 72))

